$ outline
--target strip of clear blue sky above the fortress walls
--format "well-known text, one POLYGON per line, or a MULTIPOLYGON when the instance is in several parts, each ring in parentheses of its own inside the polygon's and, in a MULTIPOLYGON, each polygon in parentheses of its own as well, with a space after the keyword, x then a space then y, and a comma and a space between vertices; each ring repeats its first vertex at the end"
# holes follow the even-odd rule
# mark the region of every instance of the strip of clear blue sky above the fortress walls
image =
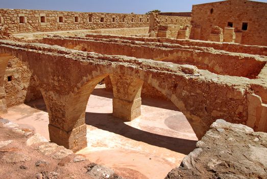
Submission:
MULTIPOLYGON (((193 4, 214 0, 0 0, 0 8, 39 9, 77 12, 114 12, 143 14, 159 9, 162 12, 188 12, 193 4)), ((267 3, 267 0, 260 0, 267 3)))

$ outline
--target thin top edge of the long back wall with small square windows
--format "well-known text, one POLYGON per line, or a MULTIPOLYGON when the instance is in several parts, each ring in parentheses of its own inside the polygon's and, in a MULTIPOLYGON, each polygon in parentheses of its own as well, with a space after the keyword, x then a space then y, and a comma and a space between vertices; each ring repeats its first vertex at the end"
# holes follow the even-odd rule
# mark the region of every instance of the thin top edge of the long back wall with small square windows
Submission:
POLYGON ((88 13, 88 14, 93 14, 93 13, 102 13, 102 14, 122 14, 122 15, 146 15, 149 16, 148 14, 131 14, 131 13, 113 13, 113 12, 79 12, 79 11, 57 11, 57 10, 41 10, 41 9, 11 9, 11 8, 0 8, 1 10, 12 10, 12 11, 48 11, 48 12, 69 12, 69 13, 88 13))

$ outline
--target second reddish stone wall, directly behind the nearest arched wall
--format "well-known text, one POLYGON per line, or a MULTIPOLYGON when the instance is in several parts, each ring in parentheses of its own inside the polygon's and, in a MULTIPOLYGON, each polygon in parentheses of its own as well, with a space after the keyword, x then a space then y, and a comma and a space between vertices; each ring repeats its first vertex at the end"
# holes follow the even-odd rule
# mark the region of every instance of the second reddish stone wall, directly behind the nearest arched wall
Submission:
POLYGON ((79 50, 107 55, 126 55, 178 64, 192 64, 216 74, 247 78, 256 78, 266 64, 265 58, 248 54, 235 55, 207 48, 156 42, 60 36, 44 38, 43 42, 70 49, 79 47, 79 50))

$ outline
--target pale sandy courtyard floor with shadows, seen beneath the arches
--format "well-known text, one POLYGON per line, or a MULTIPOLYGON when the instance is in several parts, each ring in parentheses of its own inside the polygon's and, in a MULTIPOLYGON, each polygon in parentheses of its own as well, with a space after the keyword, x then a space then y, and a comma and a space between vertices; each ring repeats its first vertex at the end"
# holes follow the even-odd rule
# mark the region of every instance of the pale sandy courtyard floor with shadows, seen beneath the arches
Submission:
MULTIPOLYGON (((197 137, 172 102, 143 98, 141 113, 131 122, 113 117, 112 92, 99 85, 86 108, 88 147, 78 153, 127 178, 164 178, 195 149, 197 137)), ((2 117, 49 139, 43 100, 11 107, 2 117)))

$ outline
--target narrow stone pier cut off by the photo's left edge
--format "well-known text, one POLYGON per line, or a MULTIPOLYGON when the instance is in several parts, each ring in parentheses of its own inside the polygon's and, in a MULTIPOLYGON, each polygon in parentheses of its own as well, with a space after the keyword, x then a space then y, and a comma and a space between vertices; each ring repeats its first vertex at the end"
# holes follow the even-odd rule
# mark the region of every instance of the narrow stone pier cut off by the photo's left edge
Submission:
POLYGON ((7 113, 6 92, 5 92, 5 73, 8 61, 12 58, 10 54, 0 54, 0 114, 7 113))

